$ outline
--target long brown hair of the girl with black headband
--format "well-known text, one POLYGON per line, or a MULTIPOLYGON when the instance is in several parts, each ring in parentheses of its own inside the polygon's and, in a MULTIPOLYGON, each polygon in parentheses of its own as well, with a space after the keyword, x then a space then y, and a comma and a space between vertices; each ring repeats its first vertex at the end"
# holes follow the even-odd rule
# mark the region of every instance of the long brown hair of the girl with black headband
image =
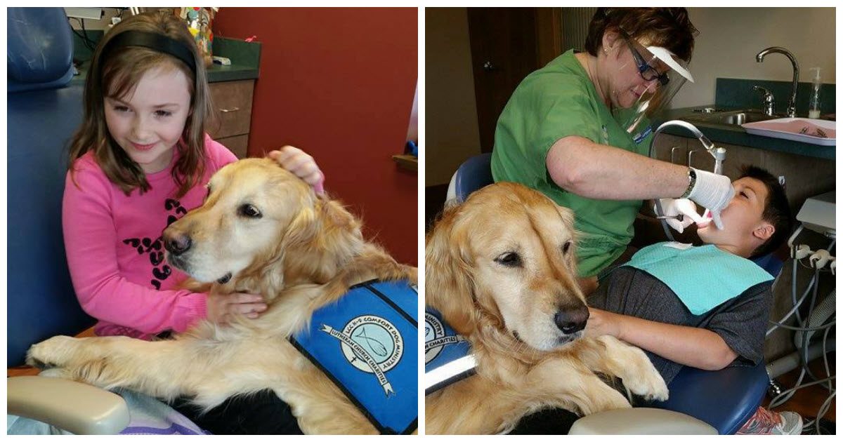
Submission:
POLYGON ((105 97, 124 97, 126 93, 132 92, 146 72, 168 64, 192 80, 191 110, 185 121, 181 141, 175 146, 179 150, 179 159, 172 171, 173 179, 179 185, 175 196, 184 196, 199 184, 205 174, 205 123, 213 117, 211 95, 205 67, 191 33, 182 20, 168 11, 142 13, 125 19, 99 41, 85 83, 83 122, 70 144, 70 164, 67 168, 71 173, 73 162, 90 151, 94 153, 94 159, 105 175, 112 183, 120 186, 126 195, 136 188, 141 192, 150 189, 142 168, 112 140, 105 124, 103 101, 105 97), (190 49, 196 73, 175 56, 140 46, 109 51, 109 56, 104 59, 103 51, 109 41, 130 30, 153 32, 179 41, 190 49))

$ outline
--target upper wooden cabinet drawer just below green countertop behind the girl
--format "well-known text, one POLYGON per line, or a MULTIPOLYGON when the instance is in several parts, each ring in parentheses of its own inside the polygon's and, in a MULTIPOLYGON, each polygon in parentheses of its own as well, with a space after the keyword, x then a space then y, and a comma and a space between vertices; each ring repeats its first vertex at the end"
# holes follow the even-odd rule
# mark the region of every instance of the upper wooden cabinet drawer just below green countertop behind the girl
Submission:
POLYGON ((213 139, 249 133, 255 80, 210 83, 217 124, 208 127, 213 139))

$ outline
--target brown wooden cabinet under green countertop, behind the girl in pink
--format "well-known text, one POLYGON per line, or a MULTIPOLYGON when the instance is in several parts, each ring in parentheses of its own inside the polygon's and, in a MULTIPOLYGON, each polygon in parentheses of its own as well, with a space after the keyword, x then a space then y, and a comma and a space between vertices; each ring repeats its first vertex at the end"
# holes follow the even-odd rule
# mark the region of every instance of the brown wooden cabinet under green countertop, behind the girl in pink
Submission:
POLYGON ((238 158, 247 157, 255 80, 210 83, 209 86, 216 119, 208 125, 208 134, 238 158))

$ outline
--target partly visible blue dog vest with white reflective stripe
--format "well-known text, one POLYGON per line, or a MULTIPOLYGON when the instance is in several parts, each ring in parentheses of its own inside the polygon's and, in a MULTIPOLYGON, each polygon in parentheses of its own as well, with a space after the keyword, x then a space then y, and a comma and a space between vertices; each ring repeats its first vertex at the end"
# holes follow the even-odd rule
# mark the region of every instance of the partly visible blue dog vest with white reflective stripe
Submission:
POLYGON ((445 322, 442 314, 425 307, 425 395, 475 373, 471 345, 445 322))

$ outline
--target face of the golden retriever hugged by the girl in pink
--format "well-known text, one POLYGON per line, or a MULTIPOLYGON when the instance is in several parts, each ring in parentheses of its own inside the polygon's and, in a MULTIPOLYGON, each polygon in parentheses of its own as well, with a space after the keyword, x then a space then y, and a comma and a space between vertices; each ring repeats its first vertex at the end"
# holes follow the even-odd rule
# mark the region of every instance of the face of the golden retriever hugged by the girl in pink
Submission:
POLYGON ((268 159, 233 162, 215 173, 201 207, 164 230, 167 259, 202 282, 227 282, 277 253, 282 237, 315 196, 268 159))

